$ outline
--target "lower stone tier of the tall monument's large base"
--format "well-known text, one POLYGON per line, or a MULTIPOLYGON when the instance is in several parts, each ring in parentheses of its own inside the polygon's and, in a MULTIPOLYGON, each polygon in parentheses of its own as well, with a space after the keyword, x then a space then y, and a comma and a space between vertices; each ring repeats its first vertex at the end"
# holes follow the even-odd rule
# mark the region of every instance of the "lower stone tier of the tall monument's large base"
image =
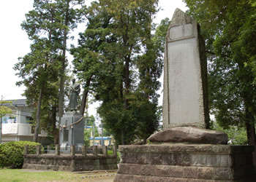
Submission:
POLYGON ((241 178, 244 175, 252 175, 254 171, 251 169, 252 166, 235 171, 233 168, 229 167, 119 164, 118 174, 228 181, 241 178))

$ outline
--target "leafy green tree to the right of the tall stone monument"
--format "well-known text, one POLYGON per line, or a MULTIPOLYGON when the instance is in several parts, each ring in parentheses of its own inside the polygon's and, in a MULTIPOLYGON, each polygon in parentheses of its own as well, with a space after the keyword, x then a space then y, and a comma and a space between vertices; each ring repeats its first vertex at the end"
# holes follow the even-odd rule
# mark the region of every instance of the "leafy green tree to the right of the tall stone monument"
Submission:
POLYGON ((206 39, 211 111, 225 128, 246 127, 249 145, 256 146, 255 2, 185 2, 206 39))

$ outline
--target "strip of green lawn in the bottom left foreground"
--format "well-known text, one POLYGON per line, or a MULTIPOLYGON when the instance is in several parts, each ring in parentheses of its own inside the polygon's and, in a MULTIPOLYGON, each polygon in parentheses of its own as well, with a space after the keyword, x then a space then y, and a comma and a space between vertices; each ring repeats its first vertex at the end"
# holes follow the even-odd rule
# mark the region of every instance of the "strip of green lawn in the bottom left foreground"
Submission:
MULTIPOLYGON (((89 176, 97 173, 71 173, 63 171, 37 171, 0 169, 0 182, 18 181, 91 181, 89 176)), ((96 178, 94 178, 95 180, 96 178)))

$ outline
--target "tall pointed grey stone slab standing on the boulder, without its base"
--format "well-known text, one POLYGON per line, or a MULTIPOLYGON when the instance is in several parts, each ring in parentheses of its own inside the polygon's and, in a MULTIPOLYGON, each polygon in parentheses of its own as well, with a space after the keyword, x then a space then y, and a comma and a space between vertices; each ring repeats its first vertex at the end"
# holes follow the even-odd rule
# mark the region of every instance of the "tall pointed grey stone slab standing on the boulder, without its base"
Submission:
POLYGON ((165 46, 164 129, 208 128, 207 63, 199 25, 176 9, 165 46))

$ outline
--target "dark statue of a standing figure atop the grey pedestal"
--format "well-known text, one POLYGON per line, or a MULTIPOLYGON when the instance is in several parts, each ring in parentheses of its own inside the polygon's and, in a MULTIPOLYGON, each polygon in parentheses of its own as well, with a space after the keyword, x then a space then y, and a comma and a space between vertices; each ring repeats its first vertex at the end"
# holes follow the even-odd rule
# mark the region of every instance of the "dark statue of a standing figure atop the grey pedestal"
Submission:
POLYGON ((69 111, 78 110, 79 93, 80 93, 80 84, 75 83, 75 79, 72 79, 72 84, 69 86, 69 111))

